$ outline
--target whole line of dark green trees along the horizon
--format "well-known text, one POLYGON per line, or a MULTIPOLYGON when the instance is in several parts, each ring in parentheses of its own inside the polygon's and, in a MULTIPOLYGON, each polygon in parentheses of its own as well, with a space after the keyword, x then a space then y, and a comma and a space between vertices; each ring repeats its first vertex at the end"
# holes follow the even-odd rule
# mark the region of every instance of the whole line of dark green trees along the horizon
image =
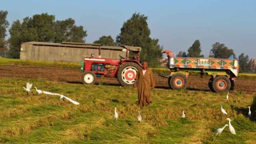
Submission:
MULTIPOLYGON (((7 11, 0 11, 0 53, 8 51, 12 58, 19 58, 20 44, 22 42, 85 42, 88 36, 83 26, 75 25, 75 20, 68 18, 66 20, 55 20, 54 15, 47 13, 35 14, 31 18, 26 17, 22 22, 16 20, 9 28, 10 38, 5 40, 6 30, 9 27, 7 21, 7 11)), ((94 43, 105 46, 138 46, 142 48, 140 60, 147 61, 151 67, 158 66, 162 59, 163 46, 158 44, 158 39, 150 38, 150 29, 147 23, 148 17, 144 14, 134 13, 122 25, 120 34, 114 40, 111 36, 101 36, 94 43)), ((224 44, 216 42, 212 45, 210 56, 214 58, 229 58, 234 54, 233 49, 229 49, 224 44)), ((188 48, 188 53, 180 51, 178 57, 204 57, 201 54, 201 44, 199 40, 188 48)), ((255 63, 249 60, 248 55, 238 56, 240 70, 242 72, 256 72, 255 63)))

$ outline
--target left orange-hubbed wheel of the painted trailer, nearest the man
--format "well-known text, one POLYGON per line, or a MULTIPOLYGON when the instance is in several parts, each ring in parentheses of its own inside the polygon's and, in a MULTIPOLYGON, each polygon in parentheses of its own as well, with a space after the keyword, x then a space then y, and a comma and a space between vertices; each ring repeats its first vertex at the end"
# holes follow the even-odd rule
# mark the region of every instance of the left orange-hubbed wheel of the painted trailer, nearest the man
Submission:
POLYGON ((184 74, 174 74, 168 81, 173 90, 186 89, 188 85, 188 80, 184 74))

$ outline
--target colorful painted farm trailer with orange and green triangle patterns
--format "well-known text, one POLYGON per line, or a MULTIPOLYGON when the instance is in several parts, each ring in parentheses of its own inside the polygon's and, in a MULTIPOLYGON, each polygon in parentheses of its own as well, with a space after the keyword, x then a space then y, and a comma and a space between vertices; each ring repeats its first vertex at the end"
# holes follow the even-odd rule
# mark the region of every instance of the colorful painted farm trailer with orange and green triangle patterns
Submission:
POLYGON ((226 92, 234 89, 238 76, 238 60, 218 58, 182 58, 175 57, 165 50, 168 56, 167 67, 171 70, 168 84, 172 89, 184 89, 188 85, 189 72, 210 75, 208 82, 210 90, 226 92))

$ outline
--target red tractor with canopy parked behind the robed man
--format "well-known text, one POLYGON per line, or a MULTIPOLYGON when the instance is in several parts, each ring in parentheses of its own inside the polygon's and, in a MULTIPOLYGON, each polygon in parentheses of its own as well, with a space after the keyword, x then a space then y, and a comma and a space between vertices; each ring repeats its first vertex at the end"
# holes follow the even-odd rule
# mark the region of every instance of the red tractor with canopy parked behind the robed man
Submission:
MULTIPOLYGON (((82 76, 81 80, 84 84, 94 84, 96 77, 115 77, 122 86, 132 86, 138 69, 142 67, 140 64, 140 47, 122 46, 126 50, 125 58, 94 58, 85 57, 81 62, 82 76), (132 53, 132 54, 130 54, 132 53)), ((99 51, 100 54, 100 51, 99 51)), ((99 55, 100 57, 100 55, 99 55)))

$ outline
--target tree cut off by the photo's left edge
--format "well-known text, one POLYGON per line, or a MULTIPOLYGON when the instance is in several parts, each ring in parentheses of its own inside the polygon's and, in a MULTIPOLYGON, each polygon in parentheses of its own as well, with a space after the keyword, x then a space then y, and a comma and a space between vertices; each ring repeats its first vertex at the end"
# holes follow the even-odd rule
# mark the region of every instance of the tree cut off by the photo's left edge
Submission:
POLYGON ((6 20, 7 14, 7 11, 0 11, 0 51, 6 48, 4 38, 6 37, 6 28, 9 26, 9 22, 6 20))

